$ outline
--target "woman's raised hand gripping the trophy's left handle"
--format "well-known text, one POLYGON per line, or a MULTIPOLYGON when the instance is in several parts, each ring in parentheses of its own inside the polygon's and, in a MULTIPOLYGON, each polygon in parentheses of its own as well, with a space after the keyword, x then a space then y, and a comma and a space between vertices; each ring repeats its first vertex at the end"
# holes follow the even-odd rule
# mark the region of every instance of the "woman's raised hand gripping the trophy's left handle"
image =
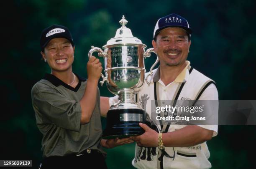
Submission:
POLYGON ((100 73, 102 71, 102 66, 100 60, 92 56, 87 62, 87 76, 88 80, 98 81, 100 78, 100 73))

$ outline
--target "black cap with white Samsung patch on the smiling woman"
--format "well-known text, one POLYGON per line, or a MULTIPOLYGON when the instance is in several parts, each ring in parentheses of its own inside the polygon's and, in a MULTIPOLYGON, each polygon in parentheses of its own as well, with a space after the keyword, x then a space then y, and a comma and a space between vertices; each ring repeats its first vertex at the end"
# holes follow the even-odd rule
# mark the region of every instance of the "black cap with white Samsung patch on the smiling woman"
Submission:
POLYGON ((41 33, 40 46, 41 51, 44 51, 44 47, 54 38, 65 38, 74 46, 74 41, 69 29, 62 25, 51 25, 45 28, 41 33))

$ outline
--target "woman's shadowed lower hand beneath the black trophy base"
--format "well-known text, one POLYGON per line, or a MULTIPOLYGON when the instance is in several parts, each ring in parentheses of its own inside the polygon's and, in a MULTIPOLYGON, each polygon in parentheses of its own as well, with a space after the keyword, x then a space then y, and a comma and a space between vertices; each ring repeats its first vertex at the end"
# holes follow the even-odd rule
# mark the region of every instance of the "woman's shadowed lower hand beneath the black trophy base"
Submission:
POLYGON ((103 147, 108 148, 108 149, 116 147, 116 146, 120 146, 123 144, 129 144, 129 143, 133 143, 133 140, 130 138, 119 139, 118 137, 115 139, 108 139, 108 140, 102 139, 100 142, 100 144, 103 147))

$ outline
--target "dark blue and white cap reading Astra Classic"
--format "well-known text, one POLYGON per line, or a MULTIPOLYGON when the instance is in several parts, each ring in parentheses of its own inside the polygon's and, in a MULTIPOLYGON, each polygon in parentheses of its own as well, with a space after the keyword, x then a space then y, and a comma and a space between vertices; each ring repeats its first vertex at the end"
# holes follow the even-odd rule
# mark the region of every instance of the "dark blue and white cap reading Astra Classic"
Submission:
POLYGON ((187 20, 175 13, 172 13, 170 15, 164 16, 163 18, 160 18, 157 21, 153 38, 155 38, 155 35, 157 35, 157 33, 159 33, 161 30, 168 27, 183 28, 187 31, 187 33, 189 33, 189 36, 192 33, 192 30, 189 28, 189 23, 187 22, 187 20))

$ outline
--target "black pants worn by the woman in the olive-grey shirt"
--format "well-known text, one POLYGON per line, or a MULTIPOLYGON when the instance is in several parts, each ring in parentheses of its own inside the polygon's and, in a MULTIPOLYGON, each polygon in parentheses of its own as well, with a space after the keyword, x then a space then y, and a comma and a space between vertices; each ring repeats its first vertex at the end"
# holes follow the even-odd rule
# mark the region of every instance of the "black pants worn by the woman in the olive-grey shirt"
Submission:
POLYGON ((77 156, 71 154, 67 156, 50 156, 43 159, 40 169, 107 169, 107 164, 103 154, 99 151, 86 151, 77 156))

